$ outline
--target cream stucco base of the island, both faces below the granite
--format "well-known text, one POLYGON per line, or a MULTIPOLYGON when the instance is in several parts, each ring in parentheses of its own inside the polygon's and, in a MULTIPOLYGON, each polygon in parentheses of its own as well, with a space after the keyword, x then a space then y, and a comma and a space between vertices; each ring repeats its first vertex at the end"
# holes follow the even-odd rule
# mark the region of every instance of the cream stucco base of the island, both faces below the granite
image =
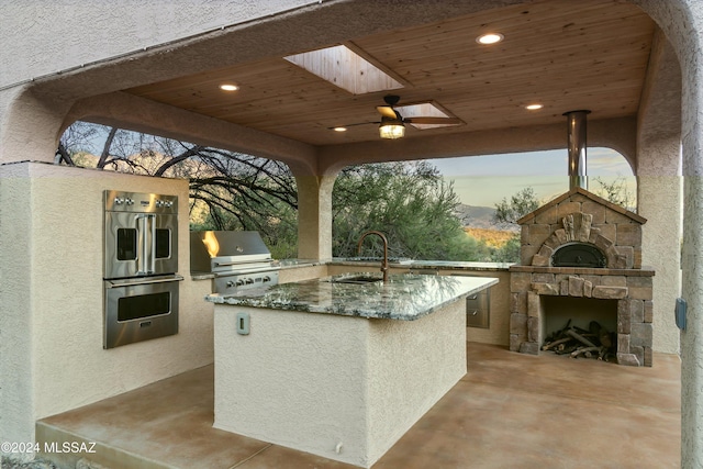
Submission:
POLYGON ((215 304, 214 331, 216 428, 367 468, 467 371, 459 299, 415 321, 215 304))

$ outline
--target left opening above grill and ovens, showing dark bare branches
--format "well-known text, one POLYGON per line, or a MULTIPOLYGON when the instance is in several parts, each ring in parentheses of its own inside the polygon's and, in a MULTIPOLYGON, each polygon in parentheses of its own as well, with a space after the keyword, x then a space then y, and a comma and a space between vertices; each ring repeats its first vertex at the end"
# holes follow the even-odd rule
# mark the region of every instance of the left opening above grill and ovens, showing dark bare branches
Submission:
POLYGON ((298 252, 298 191, 289 167, 146 133, 76 122, 60 138, 62 165, 189 180, 190 228, 261 233, 276 258, 298 252))

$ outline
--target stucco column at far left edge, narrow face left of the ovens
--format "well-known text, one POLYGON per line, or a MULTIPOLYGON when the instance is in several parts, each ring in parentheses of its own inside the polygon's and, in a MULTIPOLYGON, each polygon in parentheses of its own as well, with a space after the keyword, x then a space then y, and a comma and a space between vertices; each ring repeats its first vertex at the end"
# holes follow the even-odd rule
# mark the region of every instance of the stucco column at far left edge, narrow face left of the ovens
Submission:
MULTIPOLYGON (((0 442, 33 442, 37 414, 34 277, 37 212, 31 164, 53 161, 68 105, 0 91, 0 442), (9 164, 13 163, 13 164, 9 164), (24 259, 24 260, 22 260, 24 259), (22 265, 23 268, 18 268, 22 265)), ((46 234, 42 234, 46 236, 46 234)), ((45 286, 42 289, 46 290, 45 286)), ((32 454, 12 454, 31 459, 32 454)))

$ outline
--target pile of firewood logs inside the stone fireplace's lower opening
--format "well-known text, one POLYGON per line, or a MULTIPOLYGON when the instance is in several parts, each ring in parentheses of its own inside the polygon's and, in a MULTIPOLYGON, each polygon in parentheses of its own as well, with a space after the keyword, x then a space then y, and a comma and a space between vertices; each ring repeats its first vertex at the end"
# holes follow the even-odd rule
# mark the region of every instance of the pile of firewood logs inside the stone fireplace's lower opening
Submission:
POLYGON ((572 326, 571 320, 567 325, 556 331, 545 339, 543 350, 551 350, 557 355, 569 355, 571 358, 598 358, 607 361, 615 357, 616 336, 591 321, 589 330, 572 326))

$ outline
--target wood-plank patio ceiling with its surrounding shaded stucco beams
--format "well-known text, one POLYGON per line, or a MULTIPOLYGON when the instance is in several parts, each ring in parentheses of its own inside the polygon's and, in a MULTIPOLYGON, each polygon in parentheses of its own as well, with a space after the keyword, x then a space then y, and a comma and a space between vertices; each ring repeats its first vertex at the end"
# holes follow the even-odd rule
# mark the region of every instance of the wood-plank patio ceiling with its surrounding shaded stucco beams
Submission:
MULTIPOLYGON (((359 161, 566 147, 562 114, 589 109, 589 144, 615 147, 636 167, 640 100, 660 41, 654 21, 611 0, 501 4, 310 5, 45 77, 33 92, 74 103, 64 125, 114 124, 277 158, 316 175, 359 161), (478 44, 489 31, 504 41, 478 44), (402 104, 431 101, 462 124, 410 127, 394 142, 380 139, 376 124, 331 131, 377 122, 387 93, 354 94, 284 59, 337 44, 398 78, 403 88, 393 93, 402 104), (239 90, 220 90, 225 81, 239 90), (535 102, 544 108, 525 109, 535 102)), ((679 112, 676 107, 672 119, 679 112)))

